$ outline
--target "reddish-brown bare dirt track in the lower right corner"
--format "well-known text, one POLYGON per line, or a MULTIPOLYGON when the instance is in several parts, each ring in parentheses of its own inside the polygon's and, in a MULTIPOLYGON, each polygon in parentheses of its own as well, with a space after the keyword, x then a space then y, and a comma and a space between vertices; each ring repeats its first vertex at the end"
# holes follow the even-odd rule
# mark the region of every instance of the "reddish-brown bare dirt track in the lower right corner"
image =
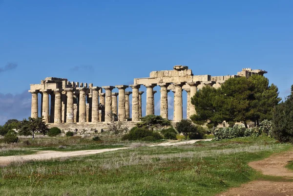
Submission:
MULTIPOLYGON (((293 161, 293 151, 274 154, 269 158, 251 162, 249 166, 265 175, 293 179, 293 172, 285 168, 285 165, 290 161, 293 161)), ((217 196, 293 196, 293 182, 282 179, 276 181, 255 180, 217 196)))

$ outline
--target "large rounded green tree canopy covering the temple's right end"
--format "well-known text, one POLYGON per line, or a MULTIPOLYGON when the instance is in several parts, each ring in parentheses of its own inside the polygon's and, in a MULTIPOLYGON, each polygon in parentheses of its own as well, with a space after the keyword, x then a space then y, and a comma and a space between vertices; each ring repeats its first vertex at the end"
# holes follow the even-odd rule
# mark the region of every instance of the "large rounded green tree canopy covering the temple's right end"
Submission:
POLYGON ((249 78, 235 77, 225 81, 219 88, 203 87, 191 98, 196 114, 191 120, 199 125, 207 123, 209 128, 223 121, 230 124, 272 119, 272 110, 280 102, 278 88, 260 75, 249 78))

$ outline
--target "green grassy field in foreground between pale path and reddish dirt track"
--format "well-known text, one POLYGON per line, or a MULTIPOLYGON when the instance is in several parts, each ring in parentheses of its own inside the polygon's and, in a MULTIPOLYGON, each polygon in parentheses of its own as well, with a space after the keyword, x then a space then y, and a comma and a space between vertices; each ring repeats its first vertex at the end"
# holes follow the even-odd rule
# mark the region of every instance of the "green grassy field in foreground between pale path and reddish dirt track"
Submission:
POLYGON ((269 137, 139 147, 0 171, 5 196, 212 196, 260 177, 247 163, 289 150, 269 137))

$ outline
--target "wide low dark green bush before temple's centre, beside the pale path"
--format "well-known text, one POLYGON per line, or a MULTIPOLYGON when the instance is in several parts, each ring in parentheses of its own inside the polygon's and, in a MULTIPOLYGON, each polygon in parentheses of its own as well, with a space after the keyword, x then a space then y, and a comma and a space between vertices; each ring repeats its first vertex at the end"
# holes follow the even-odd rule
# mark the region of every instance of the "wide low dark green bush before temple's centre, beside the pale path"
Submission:
POLYGON ((142 141, 153 141, 163 139, 163 136, 146 128, 132 128, 126 135, 122 137, 122 140, 142 140, 142 141))

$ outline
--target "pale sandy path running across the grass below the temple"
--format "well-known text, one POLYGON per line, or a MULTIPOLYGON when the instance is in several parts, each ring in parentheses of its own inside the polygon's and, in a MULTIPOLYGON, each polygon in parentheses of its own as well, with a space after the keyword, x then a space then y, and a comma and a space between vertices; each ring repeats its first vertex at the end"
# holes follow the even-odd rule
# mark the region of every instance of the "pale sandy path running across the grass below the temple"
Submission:
MULTIPOLYGON (((195 140, 188 140, 188 141, 168 141, 159 144, 148 145, 150 147, 154 146, 177 146, 177 145, 184 145, 184 144, 192 144, 198 141, 210 141, 211 139, 195 139, 195 140)), ((118 150, 125 150, 129 149, 130 147, 124 148, 115 148, 115 149, 101 149, 101 150, 84 150, 84 151, 69 151, 69 152, 59 152, 59 151, 37 151, 36 154, 29 154, 29 155, 17 155, 17 156, 0 156, 0 166, 8 165, 12 162, 23 162, 29 160, 48 160, 52 158, 61 158, 61 157, 70 157, 70 156, 81 156, 81 155, 90 155, 90 154, 97 154, 102 152, 111 152, 111 151, 118 151, 118 150)))

